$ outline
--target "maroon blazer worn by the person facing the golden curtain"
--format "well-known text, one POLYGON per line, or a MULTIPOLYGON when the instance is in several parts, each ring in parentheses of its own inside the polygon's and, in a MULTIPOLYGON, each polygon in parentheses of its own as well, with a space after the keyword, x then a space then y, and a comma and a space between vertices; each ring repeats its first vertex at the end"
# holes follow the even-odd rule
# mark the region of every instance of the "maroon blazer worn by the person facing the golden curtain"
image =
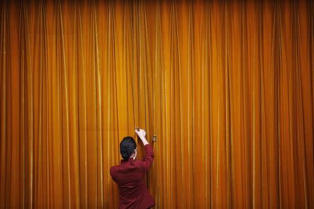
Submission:
POLYGON ((145 145, 145 157, 143 160, 121 160, 121 164, 110 168, 112 180, 119 188, 119 208, 149 208, 155 205, 155 201, 145 182, 144 175, 154 160, 153 146, 145 145))

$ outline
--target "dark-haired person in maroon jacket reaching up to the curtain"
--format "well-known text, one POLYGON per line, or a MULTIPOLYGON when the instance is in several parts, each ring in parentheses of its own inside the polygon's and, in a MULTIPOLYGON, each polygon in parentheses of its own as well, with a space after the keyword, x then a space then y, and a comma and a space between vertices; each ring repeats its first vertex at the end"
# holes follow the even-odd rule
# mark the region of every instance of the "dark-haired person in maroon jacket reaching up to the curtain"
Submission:
POLYGON ((112 180, 119 189, 119 208, 151 208, 156 203, 149 194, 144 175, 154 160, 153 146, 148 143, 146 132, 135 130, 145 148, 143 160, 135 160, 137 145, 133 137, 124 137, 120 143, 121 164, 110 168, 112 180))

